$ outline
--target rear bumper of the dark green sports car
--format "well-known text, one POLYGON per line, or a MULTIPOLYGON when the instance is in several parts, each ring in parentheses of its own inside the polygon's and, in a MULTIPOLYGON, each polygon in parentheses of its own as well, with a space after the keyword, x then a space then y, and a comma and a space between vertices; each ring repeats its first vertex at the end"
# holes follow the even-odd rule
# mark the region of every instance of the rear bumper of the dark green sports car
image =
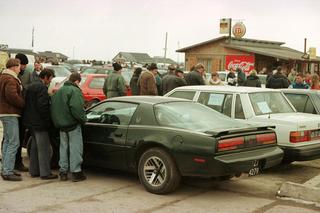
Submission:
POLYGON ((183 176, 220 177, 248 172, 254 167, 267 169, 281 163, 283 151, 268 147, 239 153, 230 153, 207 159, 205 164, 194 165, 183 176), (258 165, 257 165, 258 164, 258 165))

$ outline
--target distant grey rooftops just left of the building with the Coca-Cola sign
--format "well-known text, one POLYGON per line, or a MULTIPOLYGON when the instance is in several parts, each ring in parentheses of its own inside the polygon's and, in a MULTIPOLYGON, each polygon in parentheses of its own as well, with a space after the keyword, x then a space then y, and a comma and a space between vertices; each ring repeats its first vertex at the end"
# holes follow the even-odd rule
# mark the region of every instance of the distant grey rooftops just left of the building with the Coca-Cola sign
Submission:
POLYGON ((121 64, 150 64, 150 63, 162 63, 162 64, 176 64, 176 62, 170 58, 163 57, 150 57, 147 53, 131 53, 131 52, 119 52, 112 61, 116 61, 121 64))

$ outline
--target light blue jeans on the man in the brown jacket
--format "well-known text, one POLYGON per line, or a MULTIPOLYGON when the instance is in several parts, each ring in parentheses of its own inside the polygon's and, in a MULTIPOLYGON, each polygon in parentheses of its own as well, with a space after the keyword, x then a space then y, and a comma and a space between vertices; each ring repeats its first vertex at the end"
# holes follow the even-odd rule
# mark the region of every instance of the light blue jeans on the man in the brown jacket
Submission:
POLYGON ((19 122, 14 116, 0 117, 3 124, 2 169, 3 175, 12 175, 16 153, 20 145, 19 122))

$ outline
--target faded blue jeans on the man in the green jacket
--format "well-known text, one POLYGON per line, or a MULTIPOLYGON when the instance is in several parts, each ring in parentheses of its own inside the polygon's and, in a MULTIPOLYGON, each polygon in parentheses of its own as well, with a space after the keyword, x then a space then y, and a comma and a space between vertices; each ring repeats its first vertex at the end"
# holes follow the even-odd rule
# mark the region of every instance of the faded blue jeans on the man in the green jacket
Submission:
POLYGON ((81 126, 76 129, 63 132, 60 131, 60 172, 81 172, 83 153, 83 141, 81 126))

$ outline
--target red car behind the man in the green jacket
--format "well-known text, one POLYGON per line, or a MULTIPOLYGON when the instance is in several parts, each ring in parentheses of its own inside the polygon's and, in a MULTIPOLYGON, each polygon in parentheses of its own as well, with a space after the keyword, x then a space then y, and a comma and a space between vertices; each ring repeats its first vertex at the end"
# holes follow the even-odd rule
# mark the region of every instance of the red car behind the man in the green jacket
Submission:
MULTIPOLYGON (((86 108, 106 99, 106 96, 103 93, 103 84, 107 76, 107 74, 81 75, 80 88, 82 90, 86 108)), ((53 93, 55 93, 67 80, 68 78, 63 80, 56 88, 54 88, 53 93)), ((130 88, 127 88, 127 95, 131 95, 130 88)))

